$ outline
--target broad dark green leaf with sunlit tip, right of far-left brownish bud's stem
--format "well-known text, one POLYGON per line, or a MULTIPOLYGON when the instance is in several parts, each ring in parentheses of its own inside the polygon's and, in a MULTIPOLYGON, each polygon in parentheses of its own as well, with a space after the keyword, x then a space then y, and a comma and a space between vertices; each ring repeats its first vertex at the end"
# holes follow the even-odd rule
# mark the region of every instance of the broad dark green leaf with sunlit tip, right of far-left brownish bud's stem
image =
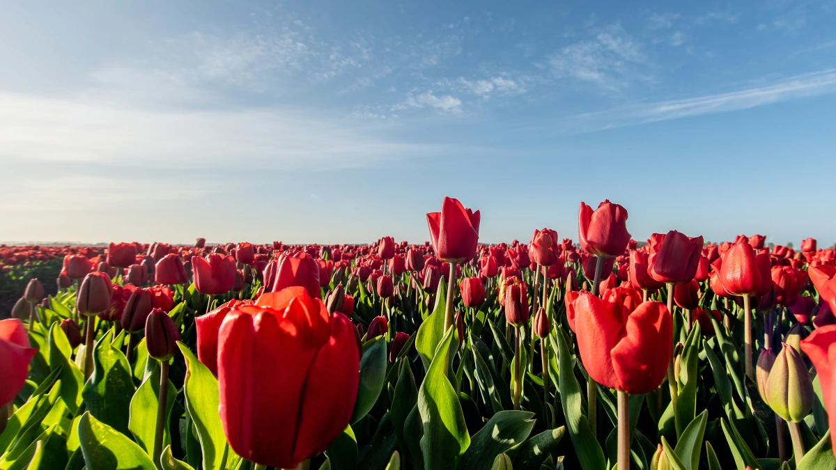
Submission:
MULTIPOLYGON (((92 317, 87 321, 92 321, 92 317)), ((97 420, 128 434, 130 397, 135 387, 130 365, 122 351, 110 344, 113 331, 108 331, 93 350, 93 374, 84 384, 84 405, 97 420)))

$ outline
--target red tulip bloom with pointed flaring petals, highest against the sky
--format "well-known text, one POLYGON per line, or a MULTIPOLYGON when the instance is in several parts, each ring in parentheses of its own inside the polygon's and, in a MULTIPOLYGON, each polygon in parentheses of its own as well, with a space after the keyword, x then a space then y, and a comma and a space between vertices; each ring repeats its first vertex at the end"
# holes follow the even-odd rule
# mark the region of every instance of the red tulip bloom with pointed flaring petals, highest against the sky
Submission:
POLYGON ((426 214, 432 248, 448 263, 463 263, 473 257, 479 242, 479 211, 472 212, 456 199, 445 197, 441 212, 426 214))

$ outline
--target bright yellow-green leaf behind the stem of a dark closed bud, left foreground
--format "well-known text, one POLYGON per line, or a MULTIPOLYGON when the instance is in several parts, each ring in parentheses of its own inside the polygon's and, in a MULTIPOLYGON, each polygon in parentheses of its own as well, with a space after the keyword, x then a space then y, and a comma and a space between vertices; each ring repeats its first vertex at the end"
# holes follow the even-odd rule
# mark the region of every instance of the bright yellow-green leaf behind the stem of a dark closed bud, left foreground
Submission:
MULTIPOLYGON (((145 377, 140 388, 136 390, 130 400, 130 421, 128 428, 133 434, 135 441, 148 455, 154 455, 154 437, 156 436, 156 415, 160 395, 160 363, 157 360, 154 371, 145 377)), ((177 397, 177 389, 171 381, 168 381, 168 394, 166 395, 166 416, 171 415, 174 402, 177 397)), ((163 447, 171 444, 171 432, 168 429, 168 419, 163 427, 163 447)))

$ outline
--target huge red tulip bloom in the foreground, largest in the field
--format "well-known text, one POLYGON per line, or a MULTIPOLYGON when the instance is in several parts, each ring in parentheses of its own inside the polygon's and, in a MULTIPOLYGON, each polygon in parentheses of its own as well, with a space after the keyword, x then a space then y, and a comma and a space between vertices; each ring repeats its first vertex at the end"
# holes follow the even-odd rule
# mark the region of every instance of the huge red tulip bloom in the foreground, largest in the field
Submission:
POLYGON ((291 287, 227 314, 218 335, 219 412, 251 462, 295 468, 349 424, 359 384, 354 325, 291 287), (269 430, 269 432, 265 432, 269 430))

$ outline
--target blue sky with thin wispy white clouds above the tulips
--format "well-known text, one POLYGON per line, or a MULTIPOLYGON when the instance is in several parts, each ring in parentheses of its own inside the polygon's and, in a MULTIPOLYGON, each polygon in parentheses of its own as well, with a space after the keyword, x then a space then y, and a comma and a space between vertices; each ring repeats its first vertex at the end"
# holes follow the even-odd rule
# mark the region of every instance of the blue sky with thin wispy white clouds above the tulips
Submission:
POLYGON ((833 0, 79 3, 0 6, 3 241, 836 242, 833 0))

